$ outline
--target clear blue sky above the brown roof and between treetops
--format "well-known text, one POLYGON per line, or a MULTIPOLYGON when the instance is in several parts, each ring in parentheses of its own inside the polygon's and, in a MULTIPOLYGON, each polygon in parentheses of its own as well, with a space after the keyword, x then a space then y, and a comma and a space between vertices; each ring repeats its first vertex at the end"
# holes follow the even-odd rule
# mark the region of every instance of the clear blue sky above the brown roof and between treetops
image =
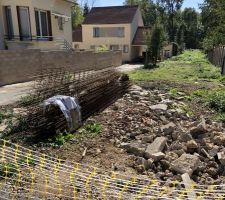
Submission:
MULTIPOLYGON (((82 0, 79 0, 82 1, 82 0)), ((84 2, 85 0, 83 0, 84 2)), ((124 0, 89 0, 89 2, 94 1, 94 6, 119 6, 122 5, 124 0)), ((198 4, 202 3, 203 0, 184 0, 183 7, 192 7, 198 9, 198 4)))

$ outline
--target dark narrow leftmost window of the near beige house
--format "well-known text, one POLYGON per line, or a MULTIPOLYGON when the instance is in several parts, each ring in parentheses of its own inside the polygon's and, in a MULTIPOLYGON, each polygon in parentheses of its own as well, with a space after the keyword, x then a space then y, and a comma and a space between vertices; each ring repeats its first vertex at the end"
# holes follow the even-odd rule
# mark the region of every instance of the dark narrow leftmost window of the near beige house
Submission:
POLYGON ((13 31, 13 22, 12 22, 12 11, 10 6, 5 6, 5 33, 7 34, 7 38, 9 40, 14 38, 14 31, 13 31))

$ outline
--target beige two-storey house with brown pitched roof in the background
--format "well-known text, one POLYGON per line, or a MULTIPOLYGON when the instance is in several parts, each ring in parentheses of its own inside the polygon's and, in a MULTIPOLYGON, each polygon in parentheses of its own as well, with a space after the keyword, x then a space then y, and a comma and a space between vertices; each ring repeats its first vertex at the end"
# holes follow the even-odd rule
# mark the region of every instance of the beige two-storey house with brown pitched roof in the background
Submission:
POLYGON ((146 48, 143 26, 138 6, 95 7, 84 23, 74 30, 73 47, 121 50, 123 61, 132 61, 141 56, 146 48))

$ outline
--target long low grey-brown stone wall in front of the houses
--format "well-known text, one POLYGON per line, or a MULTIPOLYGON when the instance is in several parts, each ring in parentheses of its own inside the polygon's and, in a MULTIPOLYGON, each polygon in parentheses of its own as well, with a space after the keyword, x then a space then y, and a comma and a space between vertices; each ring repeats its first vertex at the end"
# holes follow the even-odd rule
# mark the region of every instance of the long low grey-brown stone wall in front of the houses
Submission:
POLYGON ((73 71, 99 70, 122 63, 121 52, 92 51, 0 51, 0 86, 35 79, 43 69, 71 68, 73 71))

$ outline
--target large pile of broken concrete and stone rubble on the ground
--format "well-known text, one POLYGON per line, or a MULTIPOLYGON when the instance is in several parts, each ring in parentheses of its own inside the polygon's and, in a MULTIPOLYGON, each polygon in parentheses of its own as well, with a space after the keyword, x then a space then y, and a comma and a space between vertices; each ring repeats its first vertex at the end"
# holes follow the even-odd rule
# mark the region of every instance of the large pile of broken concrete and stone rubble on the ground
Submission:
POLYGON ((104 132, 130 154, 132 167, 140 174, 168 181, 188 175, 199 184, 225 183, 225 128, 207 116, 190 117, 182 109, 187 106, 182 93, 174 97, 133 86, 104 111, 104 132))

